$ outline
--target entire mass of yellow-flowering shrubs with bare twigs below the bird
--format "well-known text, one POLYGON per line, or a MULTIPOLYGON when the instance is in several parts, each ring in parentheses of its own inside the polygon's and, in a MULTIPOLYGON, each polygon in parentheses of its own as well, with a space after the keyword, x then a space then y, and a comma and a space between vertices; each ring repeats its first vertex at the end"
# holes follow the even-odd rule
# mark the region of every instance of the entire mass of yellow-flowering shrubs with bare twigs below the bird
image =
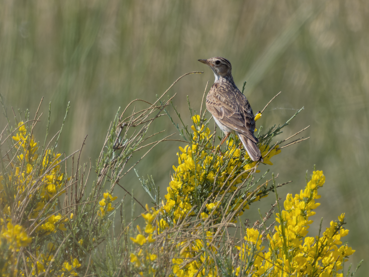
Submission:
POLYGON ((344 263, 355 250, 342 243, 348 234, 344 214, 325 230, 321 227, 317 236, 308 232, 320 205, 323 172, 314 170, 306 187, 300 194, 288 194, 283 207, 277 188, 284 184, 276 185, 273 175, 267 178, 265 166, 273 165, 274 156, 302 141, 284 146, 284 140, 273 142, 301 110, 263 134, 262 126, 258 128, 263 163, 252 161, 237 137, 217 145, 205 113, 191 115, 190 130, 176 126, 187 143, 179 147, 164 198, 152 178, 139 180, 154 206, 144 206, 130 194, 122 178, 166 140, 144 144, 151 122, 163 110, 168 114, 165 107, 171 99, 162 102, 164 95, 148 109, 127 115, 130 104, 117 114, 90 188, 91 164, 89 169, 79 164, 82 147, 69 156, 58 154, 59 136, 46 144, 47 134, 40 145, 33 135, 38 120, 29 120, 27 113, 14 127, 8 125, 7 137, 0 134, 0 146, 8 145, 0 149, 1 276, 346 276, 344 263), (126 170, 135 152, 146 146, 151 148, 126 170), (121 201, 113 196, 115 185, 125 191, 121 201), (270 192, 277 199, 273 208, 253 226, 243 224, 241 216, 249 206, 268 199, 270 192), (132 200, 131 220, 126 195, 132 200), (144 210, 141 227, 135 222, 134 201, 144 210), (117 211, 119 228, 114 222, 117 211), (273 216, 275 222, 270 222, 273 216))

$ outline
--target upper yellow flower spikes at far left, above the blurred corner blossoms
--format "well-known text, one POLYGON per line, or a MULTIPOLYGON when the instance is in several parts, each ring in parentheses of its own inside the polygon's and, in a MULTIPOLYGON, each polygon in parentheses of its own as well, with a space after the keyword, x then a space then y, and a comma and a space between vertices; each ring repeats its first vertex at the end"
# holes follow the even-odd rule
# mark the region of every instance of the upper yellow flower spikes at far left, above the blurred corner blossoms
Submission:
POLYGON ((17 187, 13 188, 13 199, 8 197, 6 190, 1 190, 0 198, 1 204, 4 205, 4 215, 10 220, 11 202, 16 201, 27 206, 25 218, 39 223, 34 224, 37 232, 49 235, 56 229, 66 230, 63 224, 65 218, 60 214, 54 215, 57 203, 52 201, 63 193, 62 187, 65 184, 59 159, 61 154, 55 154, 50 149, 46 150, 42 167, 37 168, 38 143, 35 142, 33 135, 27 134, 23 122, 18 123, 18 133, 13 136, 13 140, 14 147, 17 149, 17 158, 11 163, 13 171, 4 181, 17 184, 17 187))

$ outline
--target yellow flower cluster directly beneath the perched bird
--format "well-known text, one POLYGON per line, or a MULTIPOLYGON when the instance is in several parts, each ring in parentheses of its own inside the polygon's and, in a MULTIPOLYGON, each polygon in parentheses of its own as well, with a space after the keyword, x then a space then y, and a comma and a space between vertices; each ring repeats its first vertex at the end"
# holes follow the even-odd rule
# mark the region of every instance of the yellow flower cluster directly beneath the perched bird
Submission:
MULTIPOLYGON (((216 149, 210 144, 210 130, 201 124, 200 116, 192 117, 194 125, 191 129, 194 131, 192 144, 182 148, 178 156, 178 166, 173 165, 172 181, 168 187, 168 194, 165 195, 166 203, 163 203, 163 210, 166 212, 166 219, 177 223, 184 216, 201 214, 207 217, 213 212, 214 217, 220 217, 221 208, 225 215, 239 209, 234 214, 234 218, 242 215, 251 202, 259 200, 261 196, 254 196, 248 201, 244 201, 250 195, 248 191, 244 193, 238 190, 237 185, 242 184, 248 179, 249 175, 256 170, 258 163, 251 161, 246 151, 241 152, 242 143, 236 143, 235 140, 227 141, 225 151, 219 155, 216 149), (214 153, 215 152, 215 153, 214 153), (196 189, 200 187, 201 189, 196 189), (233 194, 238 190, 236 194, 233 194), (200 210, 199 199, 208 199, 207 209, 200 210), (234 197, 237 195, 237 197, 234 197), (218 201, 219 196, 222 201, 218 201), (242 207, 240 205, 242 204, 242 207), (196 209, 193 207, 197 205, 196 209), (188 213, 191 211, 190 213, 188 213)), ((269 151, 268 145, 262 145, 260 151, 264 157, 264 162, 271 164, 270 158, 280 153, 278 147, 269 151)), ((263 196, 266 196, 264 194, 263 196)))

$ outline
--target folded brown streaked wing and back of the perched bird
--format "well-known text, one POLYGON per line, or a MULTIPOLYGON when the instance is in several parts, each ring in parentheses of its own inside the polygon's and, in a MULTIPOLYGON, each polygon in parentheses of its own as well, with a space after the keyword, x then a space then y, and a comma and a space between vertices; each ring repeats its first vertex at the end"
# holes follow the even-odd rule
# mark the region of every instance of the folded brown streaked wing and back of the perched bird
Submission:
POLYGON ((206 98, 206 107, 217 120, 231 130, 238 131, 254 142, 255 118, 246 97, 238 91, 223 92, 220 87, 212 87, 206 98))

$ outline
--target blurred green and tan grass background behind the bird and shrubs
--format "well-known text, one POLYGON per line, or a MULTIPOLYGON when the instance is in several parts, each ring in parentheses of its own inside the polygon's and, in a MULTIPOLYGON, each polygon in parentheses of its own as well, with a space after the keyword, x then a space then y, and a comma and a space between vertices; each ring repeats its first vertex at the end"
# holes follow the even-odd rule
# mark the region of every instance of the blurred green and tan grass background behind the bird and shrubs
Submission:
MULTIPOLYGON (((186 76, 170 91, 177 93, 175 105, 189 122, 186 95, 199 110, 206 82, 214 81, 210 68, 197 59, 228 58, 238 87, 247 81, 245 95, 255 112, 282 91, 258 125, 284 123, 304 106, 282 136, 310 125, 303 136, 311 138, 285 148, 275 165, 261 170, 279 172, 280 183, 293 180, 280 189, 282 198, 303 188, 305 172, 310 174, 314 164, 324 171, 317 216, 328 226, 346 212, 350 233, 344 240, 357 250, 350 262, 364 259, 358 276, 366 276, 368 1, 1 1, 0 15, 0 93, 8 114, 11 106, 33 114, 44 96, 44 123, 36 132, 42 141, 48 103, 55 133, 70 101, 58 148, 71 153, 88 134, 85 162, 96 160, 118 107, 136 98, 154 102, 179 76, 204 71, 186 76)), ((3 116, 0 125, 5 126, 3 116)), ((161 129, 175 132, 167 117, 153 126, 161 129)), ((153 175, 162 196, 178 146, 159 145, 137 167, 141 176, 153 175)), ((134 187, 144 204, 150 202, 134 174, 123 185, 129 191, 134 187)), ((245 216, 253 217, 258 205, 253 206, 245 216)), ((268 209, 262 206, 262 212, 268 209)))

